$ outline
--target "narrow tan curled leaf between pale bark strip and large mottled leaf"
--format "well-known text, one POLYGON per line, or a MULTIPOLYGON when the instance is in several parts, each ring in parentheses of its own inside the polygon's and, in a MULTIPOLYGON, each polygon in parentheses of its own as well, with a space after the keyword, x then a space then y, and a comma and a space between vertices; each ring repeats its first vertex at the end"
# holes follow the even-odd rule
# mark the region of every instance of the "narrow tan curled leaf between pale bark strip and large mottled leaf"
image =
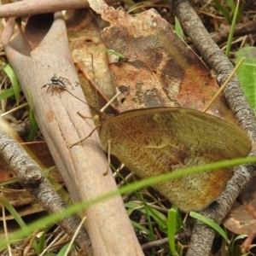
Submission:
POLYGON ((79 73, 79 82, 86 101, 94 108, 102 108, 115 94, 115 84, 108 68, 107 48, 102 42, 99 20, 96 19, 88 9, 76 10, 67 20, 67 33, 73 61, 83 72, 79 73), (94 86, 105 99, 97 95, 94 86))

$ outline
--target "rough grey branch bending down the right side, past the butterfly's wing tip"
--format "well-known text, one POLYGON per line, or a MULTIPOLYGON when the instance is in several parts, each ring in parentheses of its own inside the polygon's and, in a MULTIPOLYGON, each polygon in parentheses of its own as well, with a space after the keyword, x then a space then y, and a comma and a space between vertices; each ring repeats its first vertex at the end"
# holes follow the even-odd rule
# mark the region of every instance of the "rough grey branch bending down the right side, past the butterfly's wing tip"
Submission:
MULTIPOLYGON (((218 45, 213 42, 188 1, 179 0, 173 1, 173 3, 184 31, 192 39, 204 60, 218 73, 219 83, 223 84, 224 80, 234 68, 230 60, 222 53, 218 45)), ((241 91, 237 77, 230 81, 230 84, 224 91, 224 96, 229 102, 230 108, 232 108, 233 112, 236 114, 236 118, 241 127, 247 132, 252 141, 255 142, 256 123, 254 113, 241 91)), ((255 155, 253 151, 251 155, 255 155)), ((220 196, 218 201, 215 201, 210 207, 202 211, 201 214, 212 218, 215 222, 220 224, 241 189, 252 177, 253 172, 253 166, 237 167, 235 175, 230 179, 223 195, 220 196)), ((211 251, 213 238, 214 231, 207 225, 197 221, 193 230, 188 255, 208 255, 211 251)))

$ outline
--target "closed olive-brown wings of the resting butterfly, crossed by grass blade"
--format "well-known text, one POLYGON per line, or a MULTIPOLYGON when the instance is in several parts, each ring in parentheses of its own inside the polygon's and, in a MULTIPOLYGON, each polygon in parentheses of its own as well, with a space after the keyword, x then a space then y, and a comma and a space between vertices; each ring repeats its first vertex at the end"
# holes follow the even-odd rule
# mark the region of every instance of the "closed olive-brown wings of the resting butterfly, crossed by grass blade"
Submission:
MULTIPOLYGON (((187 108, 145 108, 106 115, 102 147, 138 177, 182 172, 219 160, 246 156, 251 142, 240 127, 187 108)), ((184 212, 207 207, 224 190, 232 168, 188 175, 154 185, 184 212)))

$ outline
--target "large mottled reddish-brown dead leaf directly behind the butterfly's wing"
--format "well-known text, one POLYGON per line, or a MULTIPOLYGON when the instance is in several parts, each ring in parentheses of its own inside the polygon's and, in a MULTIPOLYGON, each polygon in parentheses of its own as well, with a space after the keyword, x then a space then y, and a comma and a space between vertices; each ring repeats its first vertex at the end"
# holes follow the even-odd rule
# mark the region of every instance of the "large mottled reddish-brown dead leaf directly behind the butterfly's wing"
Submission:
MULTIPOLYGON (((109 65, 116 84, 130 89, 120 112, 162 106, 202 110, 218 90, 199 56, 154 9, 131 16, 108 7, 102 19, 110 23, 102 32, 104 43, 126 58, 109 65)), ((209 113, 234 121, 223 96, 209 113)))

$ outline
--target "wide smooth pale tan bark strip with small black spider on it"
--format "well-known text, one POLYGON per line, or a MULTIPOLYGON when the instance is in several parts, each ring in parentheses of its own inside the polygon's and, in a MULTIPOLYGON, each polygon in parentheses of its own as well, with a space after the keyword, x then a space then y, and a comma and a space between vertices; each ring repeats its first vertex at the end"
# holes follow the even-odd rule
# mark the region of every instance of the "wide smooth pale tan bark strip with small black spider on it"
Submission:
MULTIPOLYGON (((94 124, 91 120, 84 125, 76 114, 81 111, 89 115, 89 108, 82 102, 74 102, 73 97, 67 93, 63 93, 60 99, 40 90, 49 79, 46 78, 47 74, 55 73, 60 68, 60 75, 65 71, 65 77, 72 83, 78 80, 68 48, 65 22, 60 13, 55 13, 53 18, 54 21, 47 33, 40 30, 39 23, 35 24, 33 20, 28 20, 26 32, 30 35, 35 32, 41 33, 44 38, 40 44, 36 44, 38 41, 29 37, 33 45, 38 45, 32 51, 32 55, 23 55, 22 49, 20 52, 14 49, 15 43, 20 45, 20 33, 17 35, 18 38, 15 37, 15 43, 13 40, 10 43, 10 38, 6 38, 6 33, 3 33, 4 49, 26 98, 29 98, 28 91, 32 91, 32 106, 36 106, 35 118, 73 201, 87 201, 115 189, 116 183, 112 175, 102 176, 102 168, 107 168, 108 163, 96 135, 82 146, 74 147, 72 150, 69 148, 70 144, 86 136, 93 129, 94 124), (29 26, 30 24, 32 26, 29 26), (60 44, 55 44, 56 42, 60 44), (45 55, 48 57, 45 58, 45 55), (31 67, 33 72, 24 73, 23 67, 26 66, 31 67)), ((13 22, 13 19, 10 22, 13 22)), ((7 34, 11 36, 13 26, 10 29, 7 34)), ((76 88, 75 95, 84 99, 80 87, 76 88)), ((95 255, 143 255, 120 195, 86 209, 84 214, 88 216, 85 224, 95 255)))

